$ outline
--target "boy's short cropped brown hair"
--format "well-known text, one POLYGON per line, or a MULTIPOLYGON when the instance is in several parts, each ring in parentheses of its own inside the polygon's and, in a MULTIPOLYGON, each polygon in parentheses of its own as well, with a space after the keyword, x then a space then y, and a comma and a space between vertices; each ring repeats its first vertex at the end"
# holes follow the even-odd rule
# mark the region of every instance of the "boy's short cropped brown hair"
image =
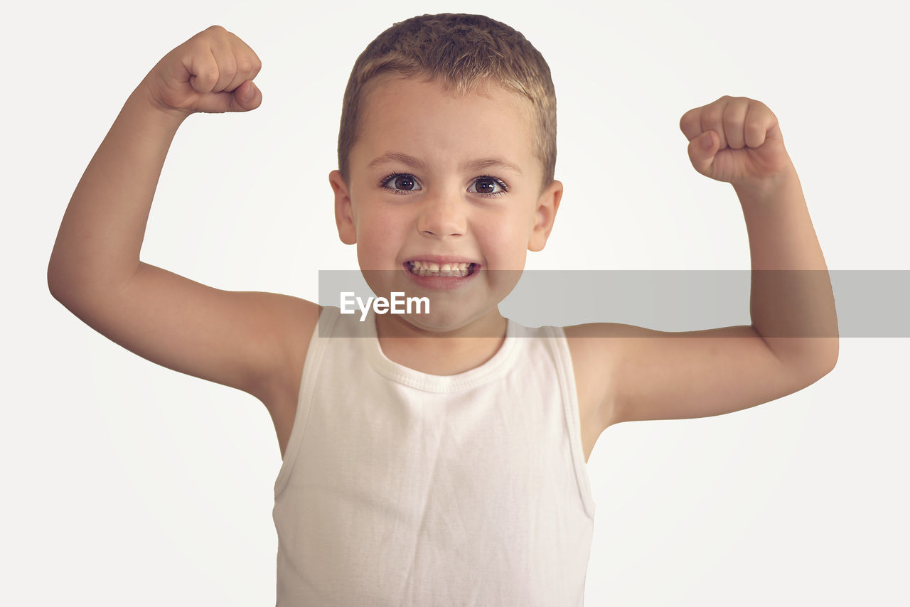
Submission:
POLYGON ((543 164, 543 187, 556 167, 556 90, 550 66, 509 25, 483 15, 422 15, 392 25, 354 62, 341 107, 339 171, 348 179, 348 157, 357 138, 366 85, 394 73, 426 76, 458 95, 496 84, 531 102, 537 121, 534 155, 543 164))

